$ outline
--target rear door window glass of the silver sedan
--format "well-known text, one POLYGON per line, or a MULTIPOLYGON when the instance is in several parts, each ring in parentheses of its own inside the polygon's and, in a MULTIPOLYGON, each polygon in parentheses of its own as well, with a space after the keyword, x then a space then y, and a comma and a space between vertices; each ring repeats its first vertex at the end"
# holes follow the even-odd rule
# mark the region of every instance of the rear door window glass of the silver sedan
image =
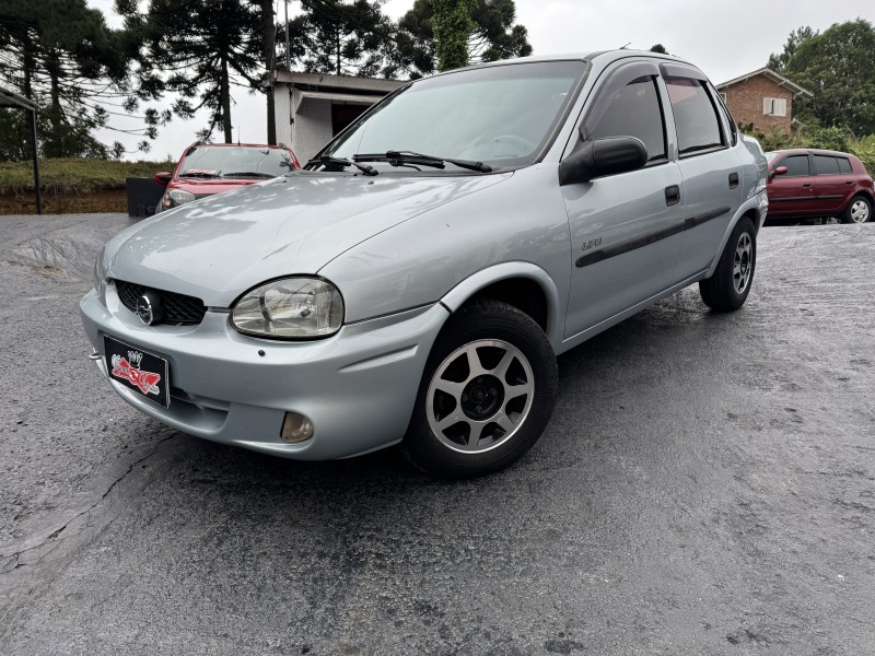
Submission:
POLYGON ((705 87, 691 78, 665 78, 675 115, 680 156, 725 145, 716 108, 705 87))

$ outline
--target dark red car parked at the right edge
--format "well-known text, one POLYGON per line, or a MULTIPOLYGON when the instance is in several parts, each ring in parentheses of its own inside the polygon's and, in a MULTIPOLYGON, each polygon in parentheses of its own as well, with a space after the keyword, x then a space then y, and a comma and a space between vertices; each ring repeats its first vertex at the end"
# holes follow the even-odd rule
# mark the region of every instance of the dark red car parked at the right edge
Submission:
POLYGON ((839 216, 843 223, 872 221, 872 178, 850 153, 783 150, 769 160, 769 219, 839 216))

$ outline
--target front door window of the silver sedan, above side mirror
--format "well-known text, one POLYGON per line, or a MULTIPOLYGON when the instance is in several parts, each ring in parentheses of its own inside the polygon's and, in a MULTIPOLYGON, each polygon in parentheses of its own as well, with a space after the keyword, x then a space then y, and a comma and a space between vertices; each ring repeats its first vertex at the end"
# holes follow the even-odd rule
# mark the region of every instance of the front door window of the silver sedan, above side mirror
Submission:
POLYGON ((603 137, 637 137, 648 147, 649 162, 666 157, 663 109, 653 77, 632 80, 617 92, 591 134, 603 137))

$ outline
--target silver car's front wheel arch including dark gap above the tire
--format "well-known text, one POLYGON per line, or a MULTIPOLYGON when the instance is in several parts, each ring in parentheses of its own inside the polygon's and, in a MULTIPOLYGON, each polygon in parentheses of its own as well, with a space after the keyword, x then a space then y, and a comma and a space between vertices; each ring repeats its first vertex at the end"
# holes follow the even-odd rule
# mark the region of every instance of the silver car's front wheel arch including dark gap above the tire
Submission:
POLYGON ((455 313, 475 297, 491 297, 513 305, 537 323, 550 343, 562 340, 559 290, 552 278, 532 262, 502 262, 481 269, 447 292, 441 303, 455 313))

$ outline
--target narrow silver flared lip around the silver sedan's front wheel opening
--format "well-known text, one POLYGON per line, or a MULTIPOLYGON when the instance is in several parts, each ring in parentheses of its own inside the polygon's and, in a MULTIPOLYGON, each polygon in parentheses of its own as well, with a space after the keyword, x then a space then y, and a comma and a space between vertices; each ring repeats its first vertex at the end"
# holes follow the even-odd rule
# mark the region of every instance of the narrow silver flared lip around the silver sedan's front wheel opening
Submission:
POLYGON ((547 339, 555 349, 558 348, 562 342, 563 321, 561 318, 564 316, 559 301, 559 291, 553 279, 544 269, 532 262, 501 262, 480 269, 444 294, 440 302, 451 313, 454 313, 480 290, 494 282, 511 278, 526 278, 537 283, 544 291, 547 298, 547 339))

